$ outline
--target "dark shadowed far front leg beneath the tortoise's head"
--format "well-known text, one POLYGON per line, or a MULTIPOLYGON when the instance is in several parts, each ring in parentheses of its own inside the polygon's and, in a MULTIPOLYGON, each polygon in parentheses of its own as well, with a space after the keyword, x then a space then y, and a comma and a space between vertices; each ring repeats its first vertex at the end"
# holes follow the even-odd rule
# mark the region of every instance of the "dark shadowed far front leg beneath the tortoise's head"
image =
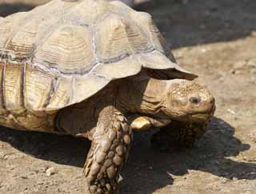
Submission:
POLYGON ((172 121, 170 125, 163 127, 153 135, 151 144, 154 148, 159 148, 162 151, 191 148, 206 132, 206 127, 206 123, 172 121))

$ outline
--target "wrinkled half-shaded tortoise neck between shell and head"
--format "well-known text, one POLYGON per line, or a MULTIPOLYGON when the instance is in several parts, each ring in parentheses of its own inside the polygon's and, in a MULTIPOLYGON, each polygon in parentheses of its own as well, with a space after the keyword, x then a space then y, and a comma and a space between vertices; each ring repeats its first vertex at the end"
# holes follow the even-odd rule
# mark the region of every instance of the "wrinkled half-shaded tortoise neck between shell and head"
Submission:
POLYGON ((166 84, 146 76, 129 77, 118 85, 118 104, 131 113, 161 114, 166 84))

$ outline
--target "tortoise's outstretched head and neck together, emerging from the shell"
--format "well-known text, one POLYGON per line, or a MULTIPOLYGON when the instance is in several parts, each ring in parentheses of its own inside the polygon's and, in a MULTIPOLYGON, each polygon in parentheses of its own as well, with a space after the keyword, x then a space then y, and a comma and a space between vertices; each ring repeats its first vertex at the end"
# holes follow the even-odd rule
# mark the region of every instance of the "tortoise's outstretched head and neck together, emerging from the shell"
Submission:
POLYGON ((209 90, 184 79, 130 77, 119 85, 117 98, 129 112, 154 119, 205 123, 215 110, 209 90))

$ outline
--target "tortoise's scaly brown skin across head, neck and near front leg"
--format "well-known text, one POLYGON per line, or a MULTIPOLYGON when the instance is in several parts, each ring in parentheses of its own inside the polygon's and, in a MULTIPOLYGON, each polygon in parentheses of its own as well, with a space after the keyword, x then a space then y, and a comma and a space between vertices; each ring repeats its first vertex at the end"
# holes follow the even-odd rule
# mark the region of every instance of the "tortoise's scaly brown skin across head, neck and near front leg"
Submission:
POLYGON ((131 124, 137 125, 138 130, 162 127, 155 139, 161 140, 162 134, 167 133, 167 142, 177 137, 173 138, 174 131, 169 128, 176 125, 176 129, 184 129, 179 135, 188 134, 178 136, 180 140, 190 142, 193 131, 190 129, 195 128, 182 124, 209 122, 213 113, 214 98, 203 86, 191 81, 157 80, 142 73, 114 81, 94 97, 63 109, 58 113, 56 127, 92 141, 85 164, 90 193, 113 194, 118 191, 118 179, 132 141, 126 117, 131 114, 142 117, 142 121, 135 120, 131 124), (146 125, 138 125, 144 121, 146 125))

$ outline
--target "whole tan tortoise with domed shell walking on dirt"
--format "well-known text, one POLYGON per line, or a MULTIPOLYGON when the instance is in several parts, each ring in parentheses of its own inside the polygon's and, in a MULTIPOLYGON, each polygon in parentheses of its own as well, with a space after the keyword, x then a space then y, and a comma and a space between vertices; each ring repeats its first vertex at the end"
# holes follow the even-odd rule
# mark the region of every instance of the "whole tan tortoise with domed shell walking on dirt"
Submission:
POLYGON ((0 18, 0 57, 0 124, 92 141, 90 193, 118 192, 133 130, 187 146, 214 114, 150 14, 122 2, 54 0, 0 18))

